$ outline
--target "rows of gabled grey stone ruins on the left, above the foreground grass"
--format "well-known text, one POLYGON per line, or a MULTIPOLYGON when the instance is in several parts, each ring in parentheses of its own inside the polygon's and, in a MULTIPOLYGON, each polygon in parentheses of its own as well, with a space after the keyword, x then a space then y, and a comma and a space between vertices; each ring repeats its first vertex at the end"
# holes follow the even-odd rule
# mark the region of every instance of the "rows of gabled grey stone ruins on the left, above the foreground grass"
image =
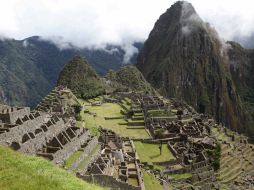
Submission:
MULTIPOLYGON (((69 96, 70 90, 57 87, 53 94, 54 99, 63 100, 63 94, 69 96)), ((35 111, 30 111, 28 107, 0 106, 0 144, 61 165, 94 137, 85 128, 76 127, 72 112, 65 112, 71 109, 67 104, 47 102, 47 106, 45 102, 40 103, 35 111), (38 111, 42 104, 48 109, 38 111)))

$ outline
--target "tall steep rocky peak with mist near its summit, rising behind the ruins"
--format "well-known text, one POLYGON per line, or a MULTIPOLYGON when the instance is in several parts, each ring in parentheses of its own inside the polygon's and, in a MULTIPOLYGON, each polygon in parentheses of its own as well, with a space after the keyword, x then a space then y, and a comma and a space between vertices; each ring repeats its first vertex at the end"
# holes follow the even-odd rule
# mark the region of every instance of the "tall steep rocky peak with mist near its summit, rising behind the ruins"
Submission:
POLYGON ((162 95, 185 100, 231 129, 244 131, 228 48, 190 3, 179 1, 155 23, 136 65, 162 95))

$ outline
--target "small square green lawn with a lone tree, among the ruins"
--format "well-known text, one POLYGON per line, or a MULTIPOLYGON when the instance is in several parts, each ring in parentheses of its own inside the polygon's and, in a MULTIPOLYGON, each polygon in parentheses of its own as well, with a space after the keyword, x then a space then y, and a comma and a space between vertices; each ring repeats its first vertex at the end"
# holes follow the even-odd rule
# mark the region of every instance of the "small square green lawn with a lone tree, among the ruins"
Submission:
POLYGON ((166 144, 162 145, 162 154, 160 155, 159 144, 148 144, 142 142, 134 142, 138 156, 141 162, 165 162, 175 160, 166 144))

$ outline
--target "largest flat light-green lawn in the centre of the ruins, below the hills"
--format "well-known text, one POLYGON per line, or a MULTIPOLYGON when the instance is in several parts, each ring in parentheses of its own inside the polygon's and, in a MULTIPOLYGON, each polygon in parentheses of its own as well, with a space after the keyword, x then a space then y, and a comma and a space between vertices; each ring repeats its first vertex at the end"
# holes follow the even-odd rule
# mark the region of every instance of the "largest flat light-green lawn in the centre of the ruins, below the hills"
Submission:
POLYGON ((148 139, 149 134, 145 130, 144 126, 140 126, 140 129, 132 129, 127 125, 124 119, 110 119, 105 120, 105 117, 119 117, 123 116, 120 113, 121 106, 114 103, 104 103, 101 106, 85 106, 92 113, 96 113, 96 116, 92 116, 88 113, 81 113, 81 116, 85 120, 86 127, 88 129, 96 128, 95 126, 102 126, 103 128, 111 129, 123 137, 130 137, 134 139, 148 139))

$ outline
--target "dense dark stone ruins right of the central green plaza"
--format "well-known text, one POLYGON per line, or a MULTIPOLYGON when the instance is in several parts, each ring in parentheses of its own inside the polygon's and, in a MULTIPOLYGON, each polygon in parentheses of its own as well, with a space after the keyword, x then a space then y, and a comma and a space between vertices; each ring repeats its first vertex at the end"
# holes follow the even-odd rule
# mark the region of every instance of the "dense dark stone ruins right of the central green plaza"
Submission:
POLYGON ((166 169, 161 172, 162 181, 167 180, 171 184, 189 183, 198 189, 216 186, 214 169, 206 156, 207 149, 213 150, 216 147, 216 139, 210 135, 211 125, 214 123, 212 119, 176 100, 169 102, 162 97, 136 93, 118 96, 132 100, 133 112, 144 114, 145 127, 153 137, 152 141, 166 142, 176 157, 176 160, 164 163, 166 169), (184 181, 175 181, 168 177, 168 174, 184 173, 191 173, 192 177, 184 181))

